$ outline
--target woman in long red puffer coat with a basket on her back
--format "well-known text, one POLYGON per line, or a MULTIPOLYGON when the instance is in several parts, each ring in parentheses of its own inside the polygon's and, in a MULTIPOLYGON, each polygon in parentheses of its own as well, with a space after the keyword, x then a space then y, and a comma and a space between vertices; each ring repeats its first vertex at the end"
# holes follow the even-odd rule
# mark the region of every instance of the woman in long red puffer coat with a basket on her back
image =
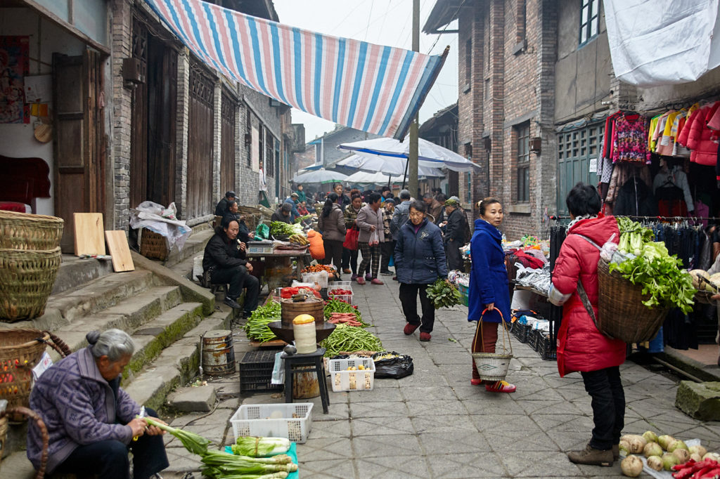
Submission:
POLYGON ((576 464, 611 466, 618 459, 624 426, 625 393, 619 366, 625 362, 626 346, 598 331, 577 290, 582 283, 597 317, 600 251, 595 245, 618 242, 620 232, 613 216, 600 213, 595 187, 577 183, 565 201, 572 221, 555 262, 549 293, 553 304, 564 304, 557 334, 557 369, 560 376, 580 371, 592 398, 595 423, 585 449, 568 452, 567 457, 576 464))

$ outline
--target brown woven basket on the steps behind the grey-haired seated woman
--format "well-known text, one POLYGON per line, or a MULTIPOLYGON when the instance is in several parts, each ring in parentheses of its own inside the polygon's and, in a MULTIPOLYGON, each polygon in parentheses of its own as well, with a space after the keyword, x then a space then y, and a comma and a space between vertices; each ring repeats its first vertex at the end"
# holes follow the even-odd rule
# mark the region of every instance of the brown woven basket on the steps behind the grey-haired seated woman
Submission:
POLYGON ((0 329, 0 399, 8 408, 30 406, 32 368, 48 341, 50 334, 40 329, 0 329))

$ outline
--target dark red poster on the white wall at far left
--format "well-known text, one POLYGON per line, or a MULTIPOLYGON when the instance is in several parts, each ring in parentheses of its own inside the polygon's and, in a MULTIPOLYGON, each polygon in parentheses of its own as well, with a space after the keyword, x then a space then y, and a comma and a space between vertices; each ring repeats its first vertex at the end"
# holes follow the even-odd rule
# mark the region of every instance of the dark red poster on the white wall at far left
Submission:
POLYGON ((30 37, 0 36, 0 123, 30 123, 24 78, 30 72, 30 37))

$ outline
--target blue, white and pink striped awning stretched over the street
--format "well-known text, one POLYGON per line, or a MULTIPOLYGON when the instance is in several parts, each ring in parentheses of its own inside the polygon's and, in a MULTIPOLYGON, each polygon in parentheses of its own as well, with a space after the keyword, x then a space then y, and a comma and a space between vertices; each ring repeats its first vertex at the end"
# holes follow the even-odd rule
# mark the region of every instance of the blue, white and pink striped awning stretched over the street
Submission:
MULTIPOLYGON (((145 0, 207 65, 317 117, 402 138, 445 54, 289 27, 201 0, 145 0)), ((447 50, 446 50, 447 51, 447 50)))

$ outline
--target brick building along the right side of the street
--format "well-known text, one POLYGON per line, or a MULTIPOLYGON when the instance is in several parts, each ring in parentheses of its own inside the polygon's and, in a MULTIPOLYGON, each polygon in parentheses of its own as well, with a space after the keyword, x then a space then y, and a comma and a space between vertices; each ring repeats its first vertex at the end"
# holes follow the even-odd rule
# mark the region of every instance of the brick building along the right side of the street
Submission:
POLYGON ((567 214, 577 183, 597 183, 603 121, 613 111, 655 114, 720 94, 720 69, 681 85, 636 88, 613 69, 600 0, 437 0, 423 31, 457 20, 458 147, 479 163, 460 175, 464 201, 496 196, 510 238, 543 234, 567 214))

